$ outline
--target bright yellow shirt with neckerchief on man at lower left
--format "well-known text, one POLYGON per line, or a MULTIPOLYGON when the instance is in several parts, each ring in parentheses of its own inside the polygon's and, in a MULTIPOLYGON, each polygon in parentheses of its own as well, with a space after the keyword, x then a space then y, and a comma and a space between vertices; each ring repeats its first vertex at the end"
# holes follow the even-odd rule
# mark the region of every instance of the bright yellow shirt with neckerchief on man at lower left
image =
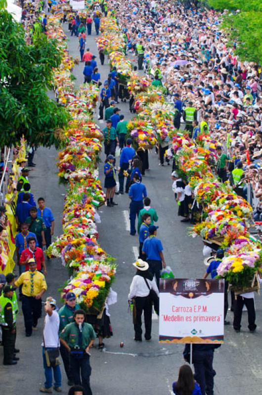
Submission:
POLYGON ((22 294, 25 296, 37 296, 42 289, 47 289, 44 275, 37 270, 25 272, 15 281, 15 286, 22 286, 22 294))

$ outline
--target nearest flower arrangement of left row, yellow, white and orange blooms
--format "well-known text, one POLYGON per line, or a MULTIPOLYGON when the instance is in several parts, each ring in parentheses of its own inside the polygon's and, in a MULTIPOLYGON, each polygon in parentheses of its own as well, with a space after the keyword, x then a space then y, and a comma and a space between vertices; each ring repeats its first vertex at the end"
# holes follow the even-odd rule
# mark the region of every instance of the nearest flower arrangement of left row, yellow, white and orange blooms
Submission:
POLYGON ((77 303, 87 314, 99 314, 115 279, 115 265, 94 263, 86 267, 63 288, 62 298, 68 292, 74 292, 77 303))

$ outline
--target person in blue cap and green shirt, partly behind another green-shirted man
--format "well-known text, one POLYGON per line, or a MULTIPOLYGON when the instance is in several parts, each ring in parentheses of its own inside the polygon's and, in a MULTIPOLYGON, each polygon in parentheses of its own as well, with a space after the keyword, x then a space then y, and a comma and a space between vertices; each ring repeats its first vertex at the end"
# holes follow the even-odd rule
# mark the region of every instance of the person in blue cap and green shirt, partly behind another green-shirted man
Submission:
MULTIPOLYGON (((68 292, 66 294, 65 305, 61 307, 58 312, 60 318, 59 324, 59 336, 62 330, 66 327, 67 324, 70 324, 74 321, 74 313, 76 310, 79 310, 80 306, 76 303, 76 295, 73 292, 68 292)), ((69 386, 74 385, 74 377, 72 373, 72 369, 70 368, 70 360, 69 354, 65 346, 60 344, 60 354, 63 359, 66 375, 67 375, 67 384, 69 386)))

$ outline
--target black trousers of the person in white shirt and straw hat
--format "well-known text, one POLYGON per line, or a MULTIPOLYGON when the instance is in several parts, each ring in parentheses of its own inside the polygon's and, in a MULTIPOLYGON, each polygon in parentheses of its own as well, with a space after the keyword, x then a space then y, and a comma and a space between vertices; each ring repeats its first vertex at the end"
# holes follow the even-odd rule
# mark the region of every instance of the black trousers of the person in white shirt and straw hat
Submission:
POLYGON ((142 313, 144 312, 145 322, 145 339, 151 339, 152 327, 152 304, 149 296, 137 296, 135 298, 135 315, 133 317, 134 323, 134 338, 135 340, 142 340, 142 313))

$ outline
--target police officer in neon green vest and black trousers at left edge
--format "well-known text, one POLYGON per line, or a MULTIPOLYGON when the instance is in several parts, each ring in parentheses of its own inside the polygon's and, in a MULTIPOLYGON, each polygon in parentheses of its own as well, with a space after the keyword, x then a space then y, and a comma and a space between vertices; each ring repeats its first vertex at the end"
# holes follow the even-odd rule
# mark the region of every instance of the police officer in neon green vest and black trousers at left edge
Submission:
POLYGON ((5 285, 0 296, 0 325, 2 326, 3 364, 16 365, 19 358, 14 356, 16 315, 12 304, 15 291, 12 285, 5 285))

